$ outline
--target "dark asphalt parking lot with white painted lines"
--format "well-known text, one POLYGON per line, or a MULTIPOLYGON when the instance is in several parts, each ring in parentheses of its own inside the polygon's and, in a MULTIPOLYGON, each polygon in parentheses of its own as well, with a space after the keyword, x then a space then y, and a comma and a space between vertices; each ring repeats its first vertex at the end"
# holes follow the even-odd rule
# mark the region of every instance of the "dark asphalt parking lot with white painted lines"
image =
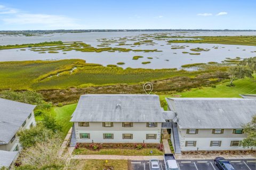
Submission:
MULTIPOLYGON (((219 168, 214 165, 213 160, 177 160, 180 170, 219 170, 219 168)), ((160 160, 161 169, 164 169, 164 162, 160 160)), ((255 170, 256 160, 252 159, 236 159, 230 160, 230 163, 236 170, 255 170)), ((148 160, 130 160, 129 170, 148 170, 149 161, 148 160)))

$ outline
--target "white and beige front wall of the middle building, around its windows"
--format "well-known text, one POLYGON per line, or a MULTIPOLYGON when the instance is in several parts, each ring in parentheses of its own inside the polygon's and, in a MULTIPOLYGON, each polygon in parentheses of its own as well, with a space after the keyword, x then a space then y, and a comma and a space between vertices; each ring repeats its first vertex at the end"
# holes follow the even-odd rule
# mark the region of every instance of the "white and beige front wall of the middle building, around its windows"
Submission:
POLYGON ((148 128, 146 123, 133 123, 133 127, 124 128, 122 122, 114 122, 113 127, 102 127, 102 122, 90 122, 89 127, 79 127, 75 122, 78 143, 160 143, 161 123, 156 128, 148 128), (79 133, 90 133, 90 139, 80 139, 79 133), (103 133, 113 133, 114 139, 103 139, 103 133), (123 134, 133 134, 133 139, 123 139, 123 134), (146 134, 157 134, 156 139, 146 139, 146 134))

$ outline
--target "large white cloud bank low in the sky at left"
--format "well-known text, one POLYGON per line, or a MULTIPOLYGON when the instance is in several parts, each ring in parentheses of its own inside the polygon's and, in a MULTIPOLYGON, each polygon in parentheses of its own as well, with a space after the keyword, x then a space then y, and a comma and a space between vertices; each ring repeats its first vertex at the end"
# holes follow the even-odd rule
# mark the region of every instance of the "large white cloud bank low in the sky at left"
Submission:
POLYGON ((0 14, 8 14, 2 17, 5 24, 37 24, 49 29, 83 29, 85 25, 77 24, 77 20, 64 15, 32 14, 20 12, 12 8, 0 5, 0 14), (7 10, 6 10, 7 9, 7 10))

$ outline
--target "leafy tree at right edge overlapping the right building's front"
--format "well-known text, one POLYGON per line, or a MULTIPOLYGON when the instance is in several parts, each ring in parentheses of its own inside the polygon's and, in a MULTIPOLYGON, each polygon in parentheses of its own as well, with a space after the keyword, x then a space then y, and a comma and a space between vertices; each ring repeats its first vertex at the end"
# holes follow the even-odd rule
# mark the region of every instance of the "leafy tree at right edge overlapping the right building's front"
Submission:
POLYGON ((256 147, 256 115, 252 117, 252 121, 243 126, 244 133, 247 134, 247 138, 242 140, 241 146, 256 147))

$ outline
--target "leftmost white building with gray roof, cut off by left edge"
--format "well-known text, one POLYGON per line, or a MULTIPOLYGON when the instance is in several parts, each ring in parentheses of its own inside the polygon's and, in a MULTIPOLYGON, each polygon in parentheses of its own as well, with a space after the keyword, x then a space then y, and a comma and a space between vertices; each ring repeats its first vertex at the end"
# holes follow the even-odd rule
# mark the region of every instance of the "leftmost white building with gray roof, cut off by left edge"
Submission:
POLYGON ((17 132, 36 125, 34 105, 0 98, 0 150, 19 151, 17 132))

